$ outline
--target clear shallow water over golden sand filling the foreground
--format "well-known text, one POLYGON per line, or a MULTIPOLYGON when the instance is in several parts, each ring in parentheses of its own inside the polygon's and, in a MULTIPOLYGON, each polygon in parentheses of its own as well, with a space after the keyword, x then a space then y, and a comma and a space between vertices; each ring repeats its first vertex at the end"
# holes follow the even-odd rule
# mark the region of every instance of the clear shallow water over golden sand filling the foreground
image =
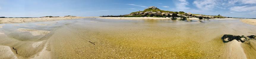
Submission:
POLYGON ((4 35, 0 34, 0 45, 15 47, 19 58, 34 58, 44 50, 49 51, 47 54, 54 59, 223 59, 225 43, 221 37, 224 34, 256 35, 256 26, 239 19, 187 22, 87 18, 30 22, 18 26, 5 24, 0 32, 4 32, 4 35), (45 36, 33 36, 17 31, 18 28, 51 32, 45 36), (37 48, 31 47, 35 42, 43 43, 37 48))

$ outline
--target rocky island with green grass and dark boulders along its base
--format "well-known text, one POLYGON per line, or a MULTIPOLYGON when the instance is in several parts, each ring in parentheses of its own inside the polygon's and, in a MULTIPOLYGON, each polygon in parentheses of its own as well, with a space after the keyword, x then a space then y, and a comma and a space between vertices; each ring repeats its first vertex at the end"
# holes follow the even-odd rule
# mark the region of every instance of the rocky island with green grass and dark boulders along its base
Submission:
MULTIPOLYGON (((132 12, 127 15, 120 15, 120 16, 100 16, 100 17, 107 17, 104 19, 111 19, 108 17, 159 17, 159 19, 172 19, 172 20, 192 20, 192 19, 214 19, 214 18, 228 18, 223 17, 221 15, 217 16, 210 16, 210 15, 203 15, 203 14, 192 14, 192 13, 185 13, 185 12, 172 12, 172 11, 165 11, 158 9, 155 6, 150 6, 144 11, 132 12)), ((120 19, 120 18, 117 18, 120 19)), ((124 18, 126 19, 126 18, 124 18)))

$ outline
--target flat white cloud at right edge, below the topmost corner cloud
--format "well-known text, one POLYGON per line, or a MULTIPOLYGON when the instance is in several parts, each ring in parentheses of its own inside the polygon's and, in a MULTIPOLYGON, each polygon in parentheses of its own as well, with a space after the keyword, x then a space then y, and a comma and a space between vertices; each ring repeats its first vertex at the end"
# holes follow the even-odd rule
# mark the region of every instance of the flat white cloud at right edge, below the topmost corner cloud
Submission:
POLYGON ((253 12, 256 11, 256 6, 234 6, 230 8, 234 12, 253 12))

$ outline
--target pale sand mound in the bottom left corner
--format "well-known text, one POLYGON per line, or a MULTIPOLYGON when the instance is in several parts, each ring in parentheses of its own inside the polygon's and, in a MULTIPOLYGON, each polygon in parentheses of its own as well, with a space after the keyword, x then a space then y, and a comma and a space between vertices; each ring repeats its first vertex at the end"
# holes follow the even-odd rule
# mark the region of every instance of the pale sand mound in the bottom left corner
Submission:
POLYGON ((0 59, 17 59, 9 46, 0 46, 0 59))

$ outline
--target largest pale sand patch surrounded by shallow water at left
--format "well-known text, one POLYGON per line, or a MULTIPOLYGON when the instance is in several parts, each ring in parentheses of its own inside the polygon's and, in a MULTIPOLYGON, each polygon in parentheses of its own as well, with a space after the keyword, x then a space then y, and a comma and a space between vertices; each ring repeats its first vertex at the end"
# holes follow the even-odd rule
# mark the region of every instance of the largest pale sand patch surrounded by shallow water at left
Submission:
POLYGON ((24 29, 24 28, 19 28, 18 31, 20 31, 20 32, 29 32, 32 35, 47 35, 48 33, 50 33, 50 31, 24 29))

